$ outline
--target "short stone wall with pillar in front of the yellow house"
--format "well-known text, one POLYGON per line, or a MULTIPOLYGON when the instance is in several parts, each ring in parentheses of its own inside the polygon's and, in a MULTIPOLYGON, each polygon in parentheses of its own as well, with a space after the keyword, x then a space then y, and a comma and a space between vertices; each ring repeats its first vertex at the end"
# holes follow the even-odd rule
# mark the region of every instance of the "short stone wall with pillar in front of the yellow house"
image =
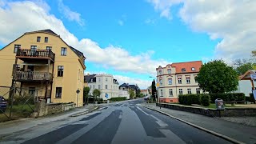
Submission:
POLYGON ((46 103, 46 100, 41 100, 36 103, 36 109, 34 114, 31 114, 31 117, 42 117, 48 114, 58 114, 63 111, 74 109, 74 103, 46 103))

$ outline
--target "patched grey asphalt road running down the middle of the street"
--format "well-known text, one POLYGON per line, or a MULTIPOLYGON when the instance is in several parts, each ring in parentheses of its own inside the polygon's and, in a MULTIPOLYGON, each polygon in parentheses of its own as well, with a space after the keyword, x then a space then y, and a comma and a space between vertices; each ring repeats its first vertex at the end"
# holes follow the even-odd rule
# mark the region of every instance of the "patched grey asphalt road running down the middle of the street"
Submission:
POLYGON ((144 101, 140 99, 101 106, 99 110, 74 118, 72 121, 63 119, 66 123, 58 127, 53 126, 52 129, 50 129, 51 123, 41 128, 34 127, 31 130, 33 134, 27 130, 27 134, 22 134, 22 138, 16 142, 26 144, 229 143, 166 115, 147 110, 138 105, 141 102, 144 101), (44 127, 46 129, 41 130, 44 127))

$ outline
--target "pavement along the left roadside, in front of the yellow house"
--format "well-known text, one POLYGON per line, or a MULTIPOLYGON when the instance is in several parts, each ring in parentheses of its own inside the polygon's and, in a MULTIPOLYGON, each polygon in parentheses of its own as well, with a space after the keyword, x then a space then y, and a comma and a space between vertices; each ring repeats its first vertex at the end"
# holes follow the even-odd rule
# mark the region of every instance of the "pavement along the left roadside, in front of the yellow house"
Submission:
POLYGON ((83 107, 78 107, 73 110, 68 110, 59 114, 50 114, 45 117, 40 118, 21 118, 14 121, 0 122, 0 138, 5 134, 12 134, 20 130, 27 130, 31 127, 40 125, 46 122, 54 122, 62 120, 64 118, 69 118, 74 114, 82 114, 94 110, 96 106, 86 105, 83 107))

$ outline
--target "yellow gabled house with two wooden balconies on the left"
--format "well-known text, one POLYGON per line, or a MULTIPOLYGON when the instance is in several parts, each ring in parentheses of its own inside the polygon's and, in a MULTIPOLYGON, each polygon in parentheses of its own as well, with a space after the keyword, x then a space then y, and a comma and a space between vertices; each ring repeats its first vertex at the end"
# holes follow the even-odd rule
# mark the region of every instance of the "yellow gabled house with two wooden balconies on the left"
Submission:
POLYGON ((82 106, 85 59, 52 30, 27 32, 0 50, 0 86, 82 106))

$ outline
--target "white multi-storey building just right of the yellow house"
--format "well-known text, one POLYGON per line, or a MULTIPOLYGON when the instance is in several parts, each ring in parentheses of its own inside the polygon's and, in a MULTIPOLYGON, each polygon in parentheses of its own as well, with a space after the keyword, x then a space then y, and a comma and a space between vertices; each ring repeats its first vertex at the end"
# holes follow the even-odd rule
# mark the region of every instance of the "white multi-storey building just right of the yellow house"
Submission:
POLYGON ((88 86, 90 87, 89 95, 93 95, 93 91, 98 89, 101 91, 100 98, 107 100, 118 97, 118 80, 114 79, 111 74, 87 74, 85 75, 88 86))

